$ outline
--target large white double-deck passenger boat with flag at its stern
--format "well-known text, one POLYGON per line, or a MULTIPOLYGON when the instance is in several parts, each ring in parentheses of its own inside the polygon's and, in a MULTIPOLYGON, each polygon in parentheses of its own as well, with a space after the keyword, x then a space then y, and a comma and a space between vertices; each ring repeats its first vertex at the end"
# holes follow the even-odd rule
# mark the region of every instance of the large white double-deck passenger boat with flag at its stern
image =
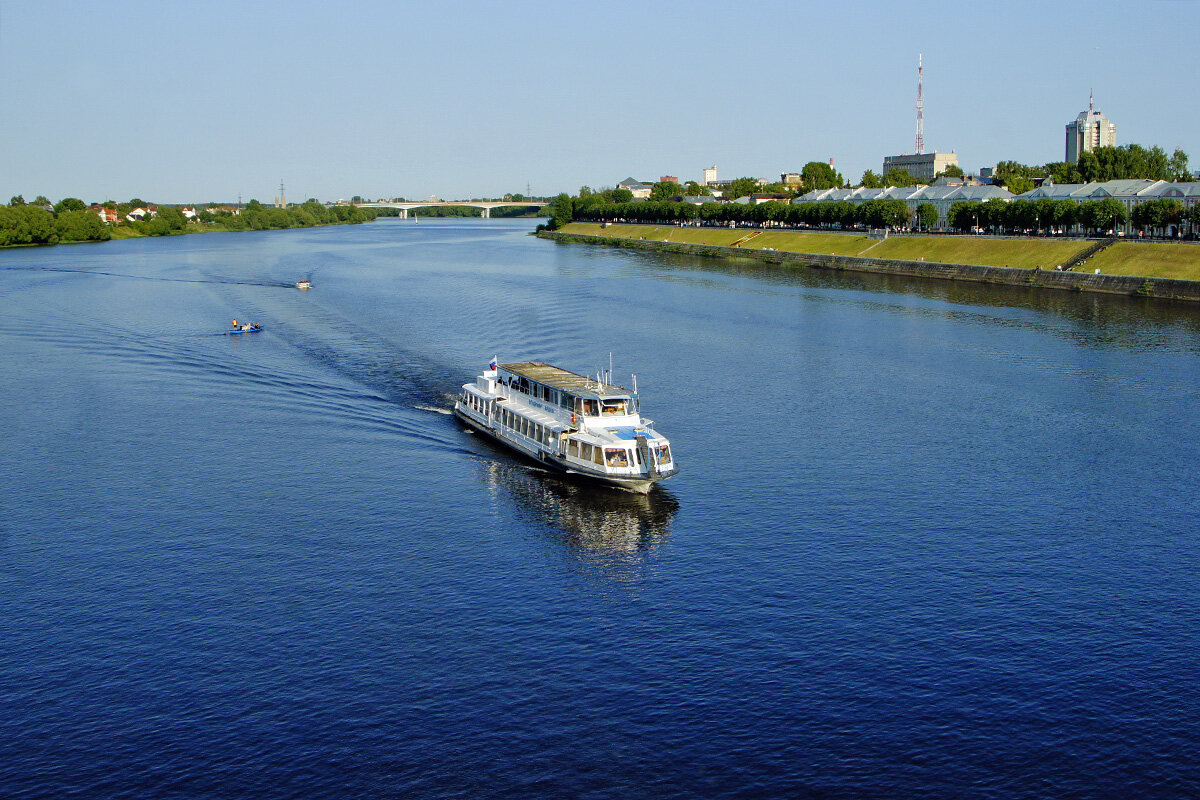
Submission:
POLYGON ((677 471, 671 443, 634 391, 539 361, 498 365, 464 384, 454 413, 469 427, 569 474, 646 494, 677 471))

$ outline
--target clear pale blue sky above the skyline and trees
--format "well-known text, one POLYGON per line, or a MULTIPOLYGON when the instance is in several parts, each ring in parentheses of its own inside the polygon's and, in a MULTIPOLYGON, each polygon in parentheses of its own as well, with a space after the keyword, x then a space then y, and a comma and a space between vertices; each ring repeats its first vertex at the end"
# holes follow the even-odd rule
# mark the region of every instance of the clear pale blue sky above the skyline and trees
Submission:
POLYGON ((1200 2, 0 0, 0 201, 553 194, 626 176, 968 172, 1120 144, 1200 168, 1200 2))

